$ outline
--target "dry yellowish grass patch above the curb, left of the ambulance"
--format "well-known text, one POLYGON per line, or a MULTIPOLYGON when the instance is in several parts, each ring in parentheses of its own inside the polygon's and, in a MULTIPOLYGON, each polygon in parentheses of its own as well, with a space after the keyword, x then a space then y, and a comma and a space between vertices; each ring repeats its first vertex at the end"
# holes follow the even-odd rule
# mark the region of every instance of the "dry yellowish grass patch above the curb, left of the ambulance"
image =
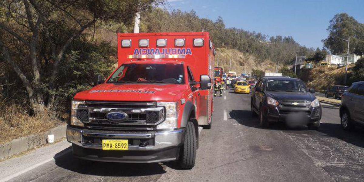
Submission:
POLYGON ((19 105, 1 102, 0 107, 3 108, 0 111, 0 144, 50 130, 62 123, 54 117, 54 113, 48 111, 29 116, 24 107, 19 105))

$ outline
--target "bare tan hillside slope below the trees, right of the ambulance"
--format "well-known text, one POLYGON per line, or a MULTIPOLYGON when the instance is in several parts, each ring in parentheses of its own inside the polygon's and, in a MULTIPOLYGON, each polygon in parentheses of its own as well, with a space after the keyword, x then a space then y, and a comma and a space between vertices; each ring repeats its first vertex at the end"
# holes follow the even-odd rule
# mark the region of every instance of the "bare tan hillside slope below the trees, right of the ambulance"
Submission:
POLYGON ((231 59, 231 71, 236 71, 238 75, 241 73, 250 74, 253 69, 265 72, 276 72, 277 63, 270 60, 258 61, 252 54, 243 53, 236 49, 216 48, 215 66, 222 67, 224 72, 229 71, 231 59), (219 65, 217 62, 219 60, 219 65))

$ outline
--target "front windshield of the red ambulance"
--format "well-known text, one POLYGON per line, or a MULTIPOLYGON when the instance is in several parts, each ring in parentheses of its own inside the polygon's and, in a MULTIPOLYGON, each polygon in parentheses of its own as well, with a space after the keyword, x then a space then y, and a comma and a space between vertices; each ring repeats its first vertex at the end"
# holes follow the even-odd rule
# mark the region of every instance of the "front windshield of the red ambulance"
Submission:
POLYGON ((108 83, 184 84, 182 64, 123 64, 108 83))

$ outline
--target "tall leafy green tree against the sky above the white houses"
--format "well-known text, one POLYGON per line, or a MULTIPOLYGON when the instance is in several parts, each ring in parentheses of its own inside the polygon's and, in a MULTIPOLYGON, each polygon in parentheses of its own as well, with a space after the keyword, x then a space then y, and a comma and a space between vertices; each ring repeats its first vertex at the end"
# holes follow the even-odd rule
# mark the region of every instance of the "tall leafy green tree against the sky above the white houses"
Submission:
POLYGON ((364 24, 356 21, 352 16, 347 13, 336 14, 331 20, 327 28, 329 35, 326 39, 322 40, 325 47, 332 52, 332 54, 346 54, 347 41, 340 40, 348 39, 350 37, 350 50, 356 54, 363 54, 364 47, 364 24))

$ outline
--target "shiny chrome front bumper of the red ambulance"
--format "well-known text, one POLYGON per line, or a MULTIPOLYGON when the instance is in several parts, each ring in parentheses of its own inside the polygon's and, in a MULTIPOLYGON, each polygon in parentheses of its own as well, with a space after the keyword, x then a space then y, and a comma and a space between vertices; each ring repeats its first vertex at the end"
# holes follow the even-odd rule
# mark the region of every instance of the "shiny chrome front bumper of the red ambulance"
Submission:
POLYGON ((129 145, 129 151, 157 151, 178 147, 182 144, 185 134, 184 128, 173 131, 100 131, 67 126, 67 141, 86 149, 102 150, 102 145, 87 144, 84 137, 98 139, 153 139, 154 145, 145 147, 129 145))

